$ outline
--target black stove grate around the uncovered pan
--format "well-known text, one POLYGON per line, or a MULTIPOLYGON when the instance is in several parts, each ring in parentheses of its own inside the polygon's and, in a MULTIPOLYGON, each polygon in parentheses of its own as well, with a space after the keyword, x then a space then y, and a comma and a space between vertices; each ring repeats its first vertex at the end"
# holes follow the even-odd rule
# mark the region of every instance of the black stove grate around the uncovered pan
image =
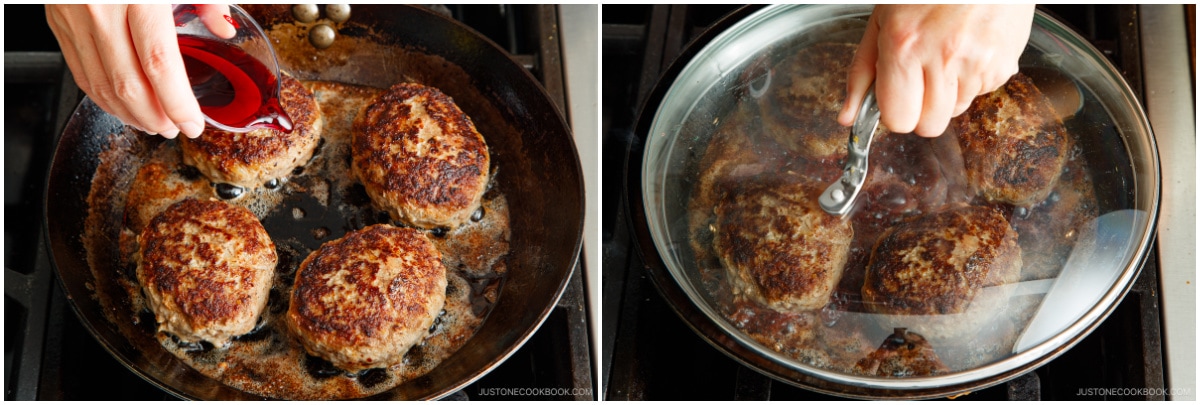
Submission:
MULTIPOLYGON (((431 8, 506 49, 566 110, 556 6, 451 7, 431 8)), ((54 279, 42 224, 44 183, 58 135, 83 95, 48 26, 13 20, 42 16, 42 6, 6 10, 7 25, 32 30, 22 34, 32 40, 5 44, 5 399, 173 400, 106 352, 54 279)), ((446 399, 502 399, 492 393, 514 392, 492 388, 575 388, 553 392, 581 395, 539 398, 593 399, 582 394, 595 392, 582 277, 581 260, 558 306, 530 340, 446 399)))

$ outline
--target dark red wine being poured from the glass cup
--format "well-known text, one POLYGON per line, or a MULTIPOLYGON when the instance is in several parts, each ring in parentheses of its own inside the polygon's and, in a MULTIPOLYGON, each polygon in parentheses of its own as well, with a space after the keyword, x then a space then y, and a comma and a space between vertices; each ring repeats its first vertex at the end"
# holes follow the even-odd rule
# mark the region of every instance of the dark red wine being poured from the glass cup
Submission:
POLYGON ((204 115, 234 128, 292 132, 292 119, 277 98, 278 78, 258 59, 241 48, 191 35, 179 36, 179 50, 204 115))

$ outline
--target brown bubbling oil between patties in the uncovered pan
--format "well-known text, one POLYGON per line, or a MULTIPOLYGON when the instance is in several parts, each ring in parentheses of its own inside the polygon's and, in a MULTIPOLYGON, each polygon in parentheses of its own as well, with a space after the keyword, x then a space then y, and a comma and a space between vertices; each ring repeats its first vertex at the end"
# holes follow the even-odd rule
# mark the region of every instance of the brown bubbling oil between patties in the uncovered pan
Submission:
MULTIPOLYGON (((323 243, 371 224, 391 223, 391 219, 372 206, 361 185, 353 180, 349 168, 349 138, 354 116, 382 90, 331 81, 306 81, 305 86, 313 92, 325 117, 323 141, 307 165, 293 171, 288 179, 275 180, 270 185, 272 187, 247 188, 233 195, 223 191, 223 186, 210 183, 211 187, 199 187, 200 191, 191 195, 202 199, 221 198, 246 207, 262 220, 275 242, 278 262, 268 304, 257 327, 235 337, 224 347, 182 341, 169 333, 157 332, 154 314, 142 296, 133 271, 137 237, 128 229, 120 230, 120 249, 114 260, 120 271, 114 273, 113 282, 119 288, 107 292, 120 291, 124 297, 109 297, 104 296, 106 292, 97 291, 97 298, 106 303, 106 308, 116 312, 107 314, 110 320, 126 322, 121 331, 131 340, 151 336, 163 349, 197 371, 234 388, 281 399, 367 397, 428 373, 462 347, 482 325, 499 298, 506 271, 505 256, 510 237, 508 201, 498 189, 490 187, 480 208, 486 214, 480 214, 478 220, 467 222, 454 230, 422 230, 443 255, 443 265, 446 267, 446 302, 428 330, 428 336, 413 346, 401 363, 348 373, 307 353, 284 322, 298 267, 323 243)), ((176 168, 169 181, 206 182, 194 168, 181 163, 174 143, 125 152, 176 168)), ((104 164, 97 173, 106 171, 104 164)), ((108 169, 116 173, 114 177, 132 177, 137 171, 136 168, 108 169)), ((122 185, 128 187, 128 181, 122 185)), ((92 194, 97 193, 96 188, 94 185, 92 194)), ((109 202, 124 206, 124 197, 118 195, 121 192, 112 193, 109 202)), ((97 202, 91 204, 96 207, 97 202)), ((97 266, 104 261, 104 254, 92 250, 101 249, 89 246, 92 268, 107 268, 97 266)), ((97 279, 107 277, 97 274, 97 279)))

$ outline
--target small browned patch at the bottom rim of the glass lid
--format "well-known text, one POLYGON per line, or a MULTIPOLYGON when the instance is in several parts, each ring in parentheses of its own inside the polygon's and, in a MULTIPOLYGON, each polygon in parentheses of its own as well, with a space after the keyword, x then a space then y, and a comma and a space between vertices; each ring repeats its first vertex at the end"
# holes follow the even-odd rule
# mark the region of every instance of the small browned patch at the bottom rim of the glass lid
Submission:
POLYGON ((896 328, 880 349, 854 364, 854 371, 881 377, 916 377, 942 374, 949 371, 949 368, 925 338, 905 328, 896 328))

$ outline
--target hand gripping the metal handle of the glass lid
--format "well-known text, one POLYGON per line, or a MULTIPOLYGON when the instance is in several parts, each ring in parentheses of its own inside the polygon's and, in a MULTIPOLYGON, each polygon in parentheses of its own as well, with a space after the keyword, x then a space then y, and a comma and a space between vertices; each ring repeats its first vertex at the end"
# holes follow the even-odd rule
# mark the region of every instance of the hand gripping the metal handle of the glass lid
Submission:
POLYGON ((878 5, 854 53, 838 122, 854 123, 875 83, 880 122, 937 137, 976 96, 1004 85, 1030 40, 1033 5, 878 5))

